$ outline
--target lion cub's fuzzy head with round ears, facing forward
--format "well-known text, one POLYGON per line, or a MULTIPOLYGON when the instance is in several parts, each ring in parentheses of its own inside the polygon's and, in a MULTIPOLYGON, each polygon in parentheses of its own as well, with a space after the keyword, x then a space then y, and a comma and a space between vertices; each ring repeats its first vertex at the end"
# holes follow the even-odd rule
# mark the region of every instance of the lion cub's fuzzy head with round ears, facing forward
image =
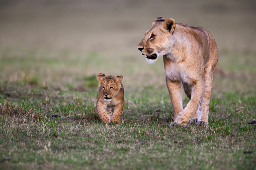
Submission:
POLYGON ((122 88, 123 76, 120 74, 116 77, 105 76, 105 74, 100 73, 97 76, 99 80, 99 98, 104 98, 105 101, 111 100, 118 91, 122 88), (102 92, 102 93, 100 93, 102 92), (102 94, 102 96, 100 96, 102 94))

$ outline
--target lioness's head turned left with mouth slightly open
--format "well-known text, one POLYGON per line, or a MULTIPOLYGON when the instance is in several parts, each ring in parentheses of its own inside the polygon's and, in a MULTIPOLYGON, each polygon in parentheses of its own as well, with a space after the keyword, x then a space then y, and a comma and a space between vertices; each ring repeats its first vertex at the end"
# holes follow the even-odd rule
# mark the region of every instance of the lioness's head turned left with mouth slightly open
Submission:
POLYGON ((148 63, 155 62, 158 56, 170 53, 175 27, 173 19, 164 20, 163 17, 158 17, 154 20, 152 27, 138 45, 141 54, 147 56, 148 63))

